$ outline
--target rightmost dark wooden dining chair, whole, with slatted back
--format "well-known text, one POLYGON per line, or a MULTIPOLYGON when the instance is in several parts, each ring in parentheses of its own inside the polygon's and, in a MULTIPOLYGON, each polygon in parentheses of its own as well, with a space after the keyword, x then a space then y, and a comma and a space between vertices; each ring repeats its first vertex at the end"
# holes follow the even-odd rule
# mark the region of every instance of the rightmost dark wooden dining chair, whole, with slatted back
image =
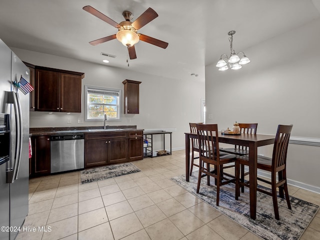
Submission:
MULTIPOLYGON (((286 153, 289 144, 289 137, 292 129, 291 125, 278 125, 274 145, 272 158, 265 156, 257 156, 257 168, 271 172, 271 181, 257 177, 257 180, 263 181, 271 185, 270 190, 266 190, 257 187, 257 190, 272 196, 273 210, 275 219, 279 220, 279 211, 277 204, 276 188, 279 188, 279 196, 283 198, 283 191, 285 194, 286 203, 288 208, 291 209, 288 187, 286 183, 286 153), (276 180, 276 173, 278 174, 278 180, 276 180)), ((249 186, 247 182, 241 182, 239 179, 239 167, 241 165, 248 165, 248 155, 237 156, 235 160, 235 199, 238 199, 240 195, 239 185, 249 186)))

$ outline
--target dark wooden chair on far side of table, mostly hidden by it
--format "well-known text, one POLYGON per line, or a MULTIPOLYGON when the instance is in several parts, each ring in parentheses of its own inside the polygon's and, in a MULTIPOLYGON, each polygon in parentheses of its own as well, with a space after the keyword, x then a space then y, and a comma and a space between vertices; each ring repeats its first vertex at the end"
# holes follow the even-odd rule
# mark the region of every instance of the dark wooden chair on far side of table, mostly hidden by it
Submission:
MULTIPOLYGON (((256 128, 258 126, 258 123, 238 123, 240 127, 240 132, 241 133, 247 133, 247 134, 256 134, 256 128)), ((230 148, 221 148, 220 151, 235 154, 235 155, 246 155, 249 154, 249 148, 247 146, 241 146, 241 145, 234 145, 233 147, 230 148)), ((229 167, 234 167, 234 164, 229 164, 223 167, 229 168, 229 167)), ((241 165, 241 173, 240 173, 240 179, 243 182, 244 181, 244 176, 248 175, 249 172, 244 172, 244 165, 241 165)), ((241 186, 241 191, 244 192, 244 186, 241 186)))

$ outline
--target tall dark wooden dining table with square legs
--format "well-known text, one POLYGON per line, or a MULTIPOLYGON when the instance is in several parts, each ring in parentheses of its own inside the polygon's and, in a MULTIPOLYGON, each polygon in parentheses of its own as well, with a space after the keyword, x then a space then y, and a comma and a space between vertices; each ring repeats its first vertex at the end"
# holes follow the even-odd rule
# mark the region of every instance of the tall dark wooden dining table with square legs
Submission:
MULTIPOLYGON (((185 180, 189 181, 190 173, 190 139, 197 138, 196 132, 185 132, 185 180)), ((249 199, 250 217, 256 217, 256 187, 257 187, 257 147, 273 144, 275 135, 268 134, 224 134, 218 132, 218 141, 249 148, 249 199)))

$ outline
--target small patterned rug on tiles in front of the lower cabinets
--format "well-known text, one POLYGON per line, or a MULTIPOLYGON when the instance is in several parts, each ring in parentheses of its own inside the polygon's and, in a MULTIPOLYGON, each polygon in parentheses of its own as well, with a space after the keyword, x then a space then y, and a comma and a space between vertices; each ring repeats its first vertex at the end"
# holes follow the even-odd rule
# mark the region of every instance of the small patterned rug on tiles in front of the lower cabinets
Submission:
POLYGON ((131 162, 90 168, 80 172, 81 184, 138 171, 141 170, 131 162))

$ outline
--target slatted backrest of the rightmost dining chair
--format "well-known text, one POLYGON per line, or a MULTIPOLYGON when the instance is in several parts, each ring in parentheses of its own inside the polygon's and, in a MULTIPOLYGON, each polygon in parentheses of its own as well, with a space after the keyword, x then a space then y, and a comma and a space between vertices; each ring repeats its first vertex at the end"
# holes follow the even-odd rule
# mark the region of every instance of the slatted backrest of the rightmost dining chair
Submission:
POLYGON ((274 170, 281 166, 285 168, 291 129, 292 124, 278 125, 272 153, 272 166, 274 170))

